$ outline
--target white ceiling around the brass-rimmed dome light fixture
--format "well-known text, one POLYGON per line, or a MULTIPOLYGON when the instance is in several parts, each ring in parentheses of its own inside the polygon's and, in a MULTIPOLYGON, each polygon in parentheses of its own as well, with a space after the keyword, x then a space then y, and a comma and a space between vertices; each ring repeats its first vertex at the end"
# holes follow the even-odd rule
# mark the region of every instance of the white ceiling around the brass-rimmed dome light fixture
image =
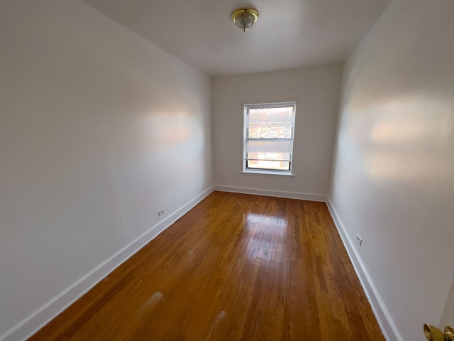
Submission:
POLYGON ((391 0, 83 0, 206 75, 343 63, 391 0), (238 7, 259 11, 243 32, 238 7))

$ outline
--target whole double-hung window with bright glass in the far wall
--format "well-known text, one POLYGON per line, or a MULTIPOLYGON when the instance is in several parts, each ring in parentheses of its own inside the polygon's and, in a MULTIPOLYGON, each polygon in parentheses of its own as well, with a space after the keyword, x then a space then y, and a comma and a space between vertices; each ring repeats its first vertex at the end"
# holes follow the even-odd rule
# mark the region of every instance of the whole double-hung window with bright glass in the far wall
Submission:
POLYGON ((296 102, 245 104, 243 171, 292 173, 296 105, 296 102))

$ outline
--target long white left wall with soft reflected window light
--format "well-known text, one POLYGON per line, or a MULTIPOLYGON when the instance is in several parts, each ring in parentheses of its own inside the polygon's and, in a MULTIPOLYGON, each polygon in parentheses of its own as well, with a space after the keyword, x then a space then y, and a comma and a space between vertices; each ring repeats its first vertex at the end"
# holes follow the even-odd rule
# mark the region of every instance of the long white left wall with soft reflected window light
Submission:
POLYGON ((0 339, 19 340, 211 187, 211 83, 74 0, 1 1, 0 48, 0 339))

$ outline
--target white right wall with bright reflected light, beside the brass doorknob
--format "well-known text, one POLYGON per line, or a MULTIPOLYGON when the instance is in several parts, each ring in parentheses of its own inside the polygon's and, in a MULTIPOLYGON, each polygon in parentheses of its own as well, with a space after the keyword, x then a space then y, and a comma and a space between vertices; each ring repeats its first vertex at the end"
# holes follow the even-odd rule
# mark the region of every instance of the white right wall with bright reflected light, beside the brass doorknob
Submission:
POLYGON ((399 340, 438 325, 453 281, 453 18, 392 2, 343 75, 331 203, 399 340))

